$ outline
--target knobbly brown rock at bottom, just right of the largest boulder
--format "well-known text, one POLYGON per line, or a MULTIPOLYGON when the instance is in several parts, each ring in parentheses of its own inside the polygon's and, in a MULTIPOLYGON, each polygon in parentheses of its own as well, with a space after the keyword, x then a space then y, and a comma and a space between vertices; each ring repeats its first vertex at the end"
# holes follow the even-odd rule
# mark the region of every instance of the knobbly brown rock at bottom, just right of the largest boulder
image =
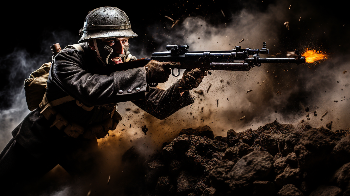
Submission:
POLYGON ((275 183, 278 186, 284 186, 286 184, 299 184, 300 181, 301 181, 300 169, 299 168, 293 169, 289 165, 275 179, 275 183))

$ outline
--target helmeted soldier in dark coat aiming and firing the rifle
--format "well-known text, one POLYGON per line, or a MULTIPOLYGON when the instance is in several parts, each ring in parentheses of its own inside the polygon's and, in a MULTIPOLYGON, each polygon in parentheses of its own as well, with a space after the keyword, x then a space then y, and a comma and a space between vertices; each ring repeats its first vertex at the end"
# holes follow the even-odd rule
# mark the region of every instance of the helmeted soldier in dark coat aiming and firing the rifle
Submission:
POLYGON ((128 51, 128 39, 137 34, 127 15, 115 7, 89 12, 79 34, 79 44, 55 56, 40 107, 13 130, 13 139, 1 152, 0 178, 6 179, 1 186, 35 179, 57 164, 71 175, 88 173, 97 164, 96 138, 105 137, 121 120, 116 103, 132 101, 164 119, 193 103, 189 90, 207 75, 199 69, 187 70, 161 90, 148 83, 166 82, 167 66, 179 63, 150 61, 145 67, 109 76, 94 74, 103 66, 136 59, 128 51))

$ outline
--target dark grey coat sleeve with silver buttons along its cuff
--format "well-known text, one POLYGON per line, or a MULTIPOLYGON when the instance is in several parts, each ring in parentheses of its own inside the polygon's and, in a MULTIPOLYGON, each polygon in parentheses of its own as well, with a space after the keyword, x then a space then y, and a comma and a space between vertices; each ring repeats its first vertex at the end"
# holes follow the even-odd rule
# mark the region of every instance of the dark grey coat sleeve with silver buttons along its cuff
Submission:
POLYGON ((144 67, 116 71, 110 76, 93 75, 86 68, 83 69, 87 63, 82 58, 83 54, 83 51, 78 52, 76 49, 59 52, 51 67, 49 79, 70 96, 91 106, 147 98, 144 67))

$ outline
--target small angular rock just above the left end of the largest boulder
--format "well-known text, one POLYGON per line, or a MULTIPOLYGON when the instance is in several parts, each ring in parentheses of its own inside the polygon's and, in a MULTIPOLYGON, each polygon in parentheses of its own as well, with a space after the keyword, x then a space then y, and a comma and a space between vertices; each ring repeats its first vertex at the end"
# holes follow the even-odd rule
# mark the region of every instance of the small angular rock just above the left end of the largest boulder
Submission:
POLYGON ((250 153, 251 151, 253 151, 252 147, 243 142, 240 142, 233 147, 227 148, 222 159, 228 159, 230 161, 237 162, 238 159, 250 153))

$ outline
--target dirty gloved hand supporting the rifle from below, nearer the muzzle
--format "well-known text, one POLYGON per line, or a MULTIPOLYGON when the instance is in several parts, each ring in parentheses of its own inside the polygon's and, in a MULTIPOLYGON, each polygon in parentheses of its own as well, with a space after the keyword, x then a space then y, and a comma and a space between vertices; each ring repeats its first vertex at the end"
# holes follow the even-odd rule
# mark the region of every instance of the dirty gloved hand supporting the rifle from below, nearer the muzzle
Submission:
POLYGON ((183 91, 189 91, 194 88, 197 88, 198 85, 202 82, 204 76, 207 76, 207 71, 202 71, 201 69, 187 69, 180 80, 179 83, 179 90, 181 92, 183 91))

